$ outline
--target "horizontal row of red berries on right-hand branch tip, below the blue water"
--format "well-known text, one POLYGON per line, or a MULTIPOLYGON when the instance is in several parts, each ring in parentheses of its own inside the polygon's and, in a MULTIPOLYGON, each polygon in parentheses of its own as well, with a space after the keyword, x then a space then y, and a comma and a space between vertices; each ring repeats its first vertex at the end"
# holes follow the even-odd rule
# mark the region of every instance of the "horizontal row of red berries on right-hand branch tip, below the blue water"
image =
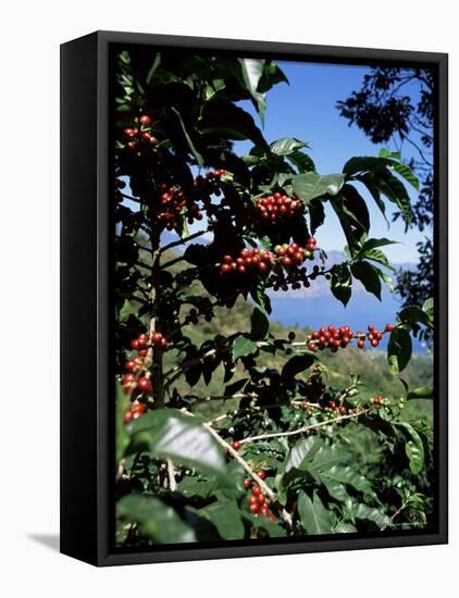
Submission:
MULTIPOLYGON (((387 324, 385 327, 385 332, 392 332, 393 329, 393 324, 387 324)), ((370 341, 372 347, 377 347, 383 338, 384 332, 376 331, 371 324, 368 326, 368 334, 362 332, 356 334, 349 326, 335 327, 330 325, 326 328, 322 326, 319 331, 312 331, 308 336, 308 348, 311 351, 328 348, 333 352, 336 352, 339 348, 345 349, 353 339, 357 339, 359 349, 363 349, 365 339, 370 341)))

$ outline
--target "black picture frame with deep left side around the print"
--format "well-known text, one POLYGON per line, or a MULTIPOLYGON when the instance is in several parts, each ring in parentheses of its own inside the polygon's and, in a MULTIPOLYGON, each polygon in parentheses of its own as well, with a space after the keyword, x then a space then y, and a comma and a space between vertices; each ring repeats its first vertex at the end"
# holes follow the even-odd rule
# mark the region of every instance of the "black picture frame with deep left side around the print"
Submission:
POLYGON ((444 53, 234 39, 96 32, 61 46, 61 552, 95 565, 221 559, 448 541, 447 175, 448 57, 444 53), (436 73, 435 119, 435 459, 433 533, 373 537, 176 545, 119 552, 113 518, 113 413, 110 396, 110 48, 151 45, 364 65, 411 65, 436 73))

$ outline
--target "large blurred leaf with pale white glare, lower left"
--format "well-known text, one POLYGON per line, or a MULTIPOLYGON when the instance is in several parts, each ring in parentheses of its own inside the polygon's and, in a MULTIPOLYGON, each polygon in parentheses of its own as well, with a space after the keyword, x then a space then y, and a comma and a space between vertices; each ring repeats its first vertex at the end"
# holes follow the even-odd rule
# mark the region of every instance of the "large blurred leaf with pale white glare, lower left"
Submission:
POLYGON ((128 433, 133 448, 138 445, 136 440, 141 439, 154 457, 169 458, 220 477, 226 474, 220 446, 197 418, 188 418, 171 408, 158 409, 134 421, 128 433))

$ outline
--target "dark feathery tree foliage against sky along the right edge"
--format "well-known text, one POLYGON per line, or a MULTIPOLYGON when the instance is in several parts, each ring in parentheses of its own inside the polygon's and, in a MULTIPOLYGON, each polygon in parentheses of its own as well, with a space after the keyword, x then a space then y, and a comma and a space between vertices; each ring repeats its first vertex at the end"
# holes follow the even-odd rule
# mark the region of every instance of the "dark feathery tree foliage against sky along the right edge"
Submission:
MULTIPOLYGON (((407 225, 421 232, 431 232, 433 225, 434 85, 431 70, 374 67, 364 76, 360 90, 337 103, 342 116, 361 128, 374 144, 398 139, 400 146, 405 142, 413 148, 415 158, 409 165, 420 176, 420 194, 412 205, 410 220, 401 210, 396 211, 394 217, 405 217, 407 225)), ((398 272, 397 290, 405 306, 422 304, 433 295, 431 236, 418 244, 417 269, 398 272)), ((431 331, 419 332, 421 338, 432 338, 431 331)))

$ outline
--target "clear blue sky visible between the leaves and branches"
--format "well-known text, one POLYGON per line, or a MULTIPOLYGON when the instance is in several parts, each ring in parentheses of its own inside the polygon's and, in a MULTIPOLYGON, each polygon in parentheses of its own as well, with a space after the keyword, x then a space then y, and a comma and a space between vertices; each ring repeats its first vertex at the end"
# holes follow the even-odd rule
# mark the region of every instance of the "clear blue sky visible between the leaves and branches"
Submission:
MULTIPOLYGON (((282 83, 273 87, 266 95, 266 113, 263 134, 268 141, 281 137, 296 137, 307 141, 307 150, 313 159, 318 172, 332 174, 342 172, 345 162, 352 155, 376 155, 383 146, 373 145, 357 126, 348 126, 348 121, 339 116, 336 110, 337 100, 346 99, 351 91, 361 87, 364 74, 369 71, 363 66, 278 62, 286 74, 289 85, 282 83)), ((414 90, 415 91, 415 90, 414 90)), ((249 102, 244 102, 256 122, 261 126, 255 110, 249 102)), ((248 153, 251 142, 235 145, 239 153, 248 153)), ((390 147, 390 149, 396 149, 390 147)), ((410 147, 401 151, 402 159, 412 157, 410 147)), ((408 189, 412 199, 415 191, 408 189)), ((362 190, 361 190, 362 191, 362 190)), ((362 195, 365 196, 363 192, 362 195)), ((385 248, 385 252, 394 263, 415 262, 418 252, 415 244, 422 238, 417 231, 405 232, 401 222, 390 223, 387 229, 381 212, 373 200, 369 201, 372 237, 389 237, 400 241, 400 245, 385 248)), ((387 207, 390 222, 392 209, 387 207)), ((332 210, 326 210, 326 220, 317 234, 321 247, 328 250, 340 250, 346 245, 337 217, 332 210)))

